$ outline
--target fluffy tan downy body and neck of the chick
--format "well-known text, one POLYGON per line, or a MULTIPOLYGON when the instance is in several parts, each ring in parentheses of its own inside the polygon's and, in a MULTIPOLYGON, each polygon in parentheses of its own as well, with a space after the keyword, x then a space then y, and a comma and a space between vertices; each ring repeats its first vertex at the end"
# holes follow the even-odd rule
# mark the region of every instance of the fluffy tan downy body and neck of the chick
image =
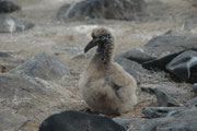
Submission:
POLYGON ((113 61, 112 38, 99 45, 79 82, 85 103, 102 114, 127 112, 137 104, 136 80, 113 61))

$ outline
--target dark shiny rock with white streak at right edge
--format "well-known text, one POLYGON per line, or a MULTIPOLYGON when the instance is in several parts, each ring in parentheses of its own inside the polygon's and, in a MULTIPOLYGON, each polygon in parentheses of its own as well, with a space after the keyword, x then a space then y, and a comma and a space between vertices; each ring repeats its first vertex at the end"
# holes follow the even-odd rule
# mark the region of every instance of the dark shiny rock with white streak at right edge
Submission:
POLYGON ((166 70, 186 82, 197 82, 197 51, 187 50, 175 57, 166 70))

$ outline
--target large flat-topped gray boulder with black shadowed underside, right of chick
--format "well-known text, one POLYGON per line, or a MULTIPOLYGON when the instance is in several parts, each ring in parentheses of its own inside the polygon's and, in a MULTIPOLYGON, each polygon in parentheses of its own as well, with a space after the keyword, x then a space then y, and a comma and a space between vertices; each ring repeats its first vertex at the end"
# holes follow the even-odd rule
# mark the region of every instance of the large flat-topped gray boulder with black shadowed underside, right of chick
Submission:
POLYGON ((165 67, 169 62, 184 51, 195 49, 196 45, 196 36, 162 35, 152 38, 144 45, 143 51, 155 59, 144 62, 142 67, 151 70, 166 70, 165 67))

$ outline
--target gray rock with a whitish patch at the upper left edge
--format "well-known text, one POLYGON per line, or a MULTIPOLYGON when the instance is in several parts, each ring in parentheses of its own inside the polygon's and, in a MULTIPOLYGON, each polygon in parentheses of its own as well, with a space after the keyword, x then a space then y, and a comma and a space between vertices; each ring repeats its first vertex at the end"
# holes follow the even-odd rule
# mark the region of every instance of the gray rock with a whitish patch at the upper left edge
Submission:
POLYGON ((18 20, 15 17, 7 15, 0 15, 0 33, 22 32, 34 26, 34 24, 30 22, 18 20))

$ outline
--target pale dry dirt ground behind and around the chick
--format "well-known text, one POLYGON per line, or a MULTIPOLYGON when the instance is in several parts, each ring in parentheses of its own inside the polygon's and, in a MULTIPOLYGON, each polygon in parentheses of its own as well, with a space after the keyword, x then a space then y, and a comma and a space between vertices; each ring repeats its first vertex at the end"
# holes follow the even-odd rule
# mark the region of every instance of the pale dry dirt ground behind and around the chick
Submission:
MULTIPOLYGON (((105 26, 116 36, 116 53, 141 47, 152 37, 173 31, 175 35, 197 35, 197 27, 184 31, 184 23, 197 12, 197 8, 188 0, 146 0, 149 3, 148 15, 152 19, 138 19, 137 21, 102 21, 101 23, 70 22, 63 23, 56 19, 58 9, 69 2, 80 0, 12 0, 22 7, 22 11, 11 15, 27 20, 35 24, 28 31, 12 34, 0 34, 0 51, 12 51, 20 59, 28 60, 38 52, 47 52, 58 58, 70 70, 71 75, 54 81, 67 88, 76 103, 60 108, 81 109, 86 107, 81 98, 78 81, 90 57, 74 57, 82 55, 83 47, 90 40, 92 28, 105 26)), ((11 70, 11 69, 10 69, 11 70)), ((141 109, 144 103, 153 103, 155 98, 138 93, 139 104, 135 110, 121 117, 142 117, 141 109)), ((48 112, 49 115, 51 112, 48 112)), ((47 116, 46 115, 46 116, 47 116)), ((45 116, 45 117, 46 117, 45 116)), ((40 118, 43 119, 43 118, 40 118)), ((39 120, 40 120, 39 119, 39 120)), ((39 122, 27 122, 25 127, 36 130, 39 122)))

